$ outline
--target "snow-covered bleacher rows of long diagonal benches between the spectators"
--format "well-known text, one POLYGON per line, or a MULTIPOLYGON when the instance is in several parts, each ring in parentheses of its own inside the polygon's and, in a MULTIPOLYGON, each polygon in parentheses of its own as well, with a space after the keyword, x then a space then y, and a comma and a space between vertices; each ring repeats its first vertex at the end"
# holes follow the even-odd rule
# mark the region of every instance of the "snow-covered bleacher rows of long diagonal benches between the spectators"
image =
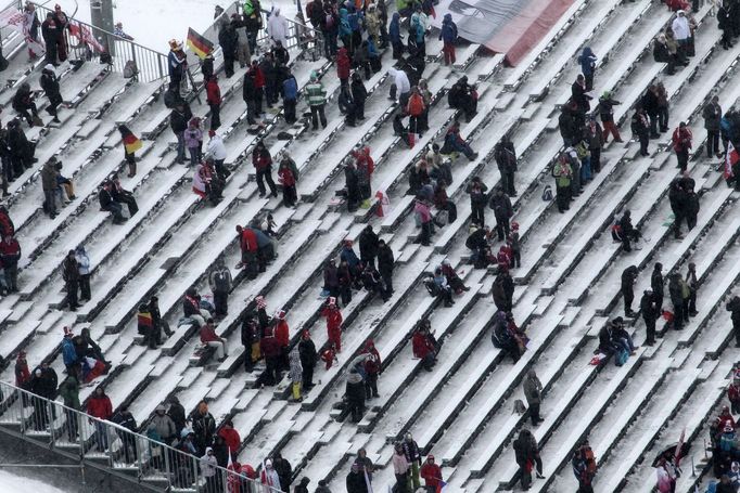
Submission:
MULTIPOLYGON (((574 491, 570 460, 586 438, 597 457, 597 491, 650 491, 655 454, 678 440, 681 429, 687 442, 694 442, 690 455, 699 466, 707 417, 723 399, 728 374, 740 355, 728 347, 731 323, 724 309, 740 282, 740 196, 723 183, 717 160, 705 157, 701 112, 713 95, 725 111, 740 100, 736 83, 740 47, 722 50, 709 2, 693 16, 696 56, 672 76, 665 64, 653 61, 651 51, 652 39, 673 14, 650 0, 574 2, 515 68, 505 67, 502 55, 475 44, 459 49, 456 66, 446 67, 437 55, 442 42, 433 34, 426 41, 424 72, 433 94, 430 130, 412 148, 392 128, 398 104, 387 98, 388 68, 394 63, 390 49, 383 54, 382 69, 365 82, 366 119, 354 128, 345 125, 336 105, 335 66, 312 52, 303 53, 308 48, 298 44, 291 48, 292 72, 299 88, 308 83, 311 72, 321 76, 328 127, 311 131, 309 124, 289 126, 278 109, 268 112, 258 134, 248 133, 242 100, 245 69, 237 68, 231 78, 220 78, 225 102, 219 133, 232 173, 216 206, 192 193, 192 168, 175 163, 170 111, 164 106, 161 80, 125 79, 95 60, 79 69, 63 65, 60 81, 69 104, 60 111, 62 122, 26 131, 37 141, 38 163, 10 184, 4 199, 23 257, 20 293, 0 300, 2 380, 14 381, 13 362, 21 351, 27 353, 29 364, 48 361, 62 375, 62 327, 75 333, 89 327, 112 363, 111 372, 95 385, 105 387, 114 408, 128 405, 140 425, 167 397, 177 397, 187 413, 206 400, 217 426, 230 419, 240 432, 240 462, 257 466, 280 452, 293 465, 294 479, 307 476, 312 484, 324 479, 332 491, 345 491, 345 476, 360 447, 375 464, 377 491, 385 491, 395 483, 394 443, 410 432, 424 454, 434 454, 443 465, 445 491, 492 492, 509 489, 518 479, 512 441, 528 427, 528 419, 512 410, 516 400, 524 399, 521 384, 534 368, 545 389, 544 421, 532 427, 545 479, 535 480, 532 490, 574 491), (558 116, 580 72, 576 59, 586 46, 599 56, 595 93, 609 90, 622 102, 614 117, 623 124, 625 141, 630 132, 624 124, 647 85, 656 78, 669 99, 671 129, 687 121, 693 132, 696 154, 688 174, 701 191, 701 211, 697 226, 680 241, 673 239, 666 226, 672 219, 668 185, 677 177, 669 133, 651 140, 651 154, 646 157, 639 155, 636 142, 610 142, 601 153, 601 172, 564 213, 541 198, 545 186, 553 185, 550 167, 563 150, 558 116), (431 246, 421 246, 414 243, 419 229, 413 196, 407 195, 408 173, 426 146, 441 143, 449 124, 459 117, 448 107, 446 93, 463 74, 479 83, 479 115, 461 124, 463 137, 479 156, 454 163, 447 193, 459 217, 437 229, 431 246), (123 225, 113 224, 98 207, 100 184, 125 166, 117 124, 128 125, 144 144, 138 153, 137 174, 122 176, 124 187, 133 191, 139 205, 139 212, 123 225), (290 138, 279 139, 281 132, 290 138), (522 267, 512 270, 513 314, 531 339, 516 363, 490 341, 490 321, 497 311, 492 300, 495 272, 467 263, 470 250, 464 245, 471 218, 465 185, 473 177, 489 190, 499 185, 493 155, 505 134, 520 157, 519 195, 511 198, 522 238, 522 267), (295 159, 301 171, 301 200, 295 208, 284 207, 281 197, 258 197, 251 153, 259 140, 273 158, 286 152, 295 159), (344 187, 343 166, 358 144, 368 145, 375 159, 373 196, 381 190, 390 197, 383 217, 377 213, 381 207, 374 198, 370 208, 356 212, 336 205, 335 192, 344 187), (52 156, 76 184, 76 198, 55 219, 41 210, 39 172, 52 156), (610 235, 614 217, 625 209, 631 210, 634 224, 643 233, 640 249, 630 252, 610 235), (278 256, 265 272, 248 280, 233 269, 241 261, 234 226, 263 219, 267 212, 278 224, 278 256), (268 313, 286 311, 292 345, 303 330, 310 332, 317 348, 328 343, 326 322, 318 314, 323 303, 323 267, 339 255, 343 242, 357 242, 367 224, 394 251, 393 296, 383 302, 363 290, 353 294, 353 301, 342 308, 339 362, 329 369, 322 362, 317 365, 316 386, 302 402, 290 399, 288 376, 278 386, 260 385, 263 363, 245 374, 241 324, 257 296, 266 298, 268 313), (61 262, 79 245, 91 260, 92 299, 69 312, 64 306, 61 262), (421 283, 445 259, 470 287, 456 296, 450 308, 430 297, 421 283), (197 330, 178 327, 178 320, 188 288, 209 293, 207 274, 218 260, 231 268, 234 283, 229 314, 216 327, 229 356, 216 363, 194 356, 197 330), (685 273, 690 262, 697 264, 698 314, 682 332, 666 329, 659 321, 662 338, 653 347, 638 348, 623 366, 590 365, 599 330, 609 319, 624 314, 623 270, 631 264, 640 270, 639 299, 658 261, 666 277, 669 272, 685 273), (160 348, 148 349, 140 343, 136 312, 153 295, 158 296, 173 335, 160 348), (431 321, 444 342, 431 372, 421 368, 411 350, 411 335, 421 319, 431 321), (368 339, 374 340, 383 361, 380 398, 368 401, 363 418, 354 424, 337 403, 349 364, 368 339)), ((10 100, 22 81, 38 89, 40 66, 26 62, 17 35, 8 35, 2 42, 10 62, 0 75, 5 76, 0 105, 7 118, 13 114, 10 100)), ((221 68, 219 56, 216 67, 221 68)), ((200 85, 196 92, 203 102, 192 98, 193 114, 207 117, 200 85)), ((304 108, 299 103, 298 114, 304 108)), ((493 224, 493 212, 487 209, 486 215, 493 224)), ((666 297, 666 308, 669 304, 666 297)), ((627 323, 642 345, 642 319, 627 319, 627 323)), ((84 387, 80 400, 88 399, 93 388, 84 387)), ((677 491, 700 482, 689 476, 678 480, 677 491)))

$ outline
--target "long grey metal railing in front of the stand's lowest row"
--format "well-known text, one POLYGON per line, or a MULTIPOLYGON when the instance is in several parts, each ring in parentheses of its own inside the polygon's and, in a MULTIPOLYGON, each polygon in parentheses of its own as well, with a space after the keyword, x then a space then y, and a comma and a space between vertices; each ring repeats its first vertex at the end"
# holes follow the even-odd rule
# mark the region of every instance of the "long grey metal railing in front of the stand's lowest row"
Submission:
MULTIPOLYGON (((155 492, 280 493, 243 473, 0 381, 0 431, 155 492), (234 488, 239 484, 240 489, 234 488)), ((235 452, 235 451, 234 451, 235 452)))

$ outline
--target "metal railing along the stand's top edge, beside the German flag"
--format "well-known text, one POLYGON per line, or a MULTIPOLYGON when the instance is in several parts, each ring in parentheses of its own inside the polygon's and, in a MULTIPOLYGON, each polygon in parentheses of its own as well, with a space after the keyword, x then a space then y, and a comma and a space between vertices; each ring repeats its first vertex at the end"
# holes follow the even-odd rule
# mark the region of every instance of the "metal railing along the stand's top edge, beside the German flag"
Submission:
MULTIPOLYGON (((23 0, 18 1, 18 8, 23 9, 23 0)), ((47 17, 47 13, 53 10, 39 3, 34 3, 39 21, 47 17)), ((111 54, 111 68, 114 72, 123 73, 126 64, 131 61, 138 69, 138 80, 151 82, 167 77, 167 55, 158 51, 142 47, 131 40, 120 38, 113 33, 84 23, 76 18, 69 18, 69 24, 77 27, 78 33, 90 33, 91 36, 111 54)), ((40 37, 40 28, 39 28, 40 37)), ((65 29, 64 38, 67 43, 67 52, 71 59, 92 60, 99 59, 101 53, 94 50, 82 36, 73 36, 69 29, 65 29)))

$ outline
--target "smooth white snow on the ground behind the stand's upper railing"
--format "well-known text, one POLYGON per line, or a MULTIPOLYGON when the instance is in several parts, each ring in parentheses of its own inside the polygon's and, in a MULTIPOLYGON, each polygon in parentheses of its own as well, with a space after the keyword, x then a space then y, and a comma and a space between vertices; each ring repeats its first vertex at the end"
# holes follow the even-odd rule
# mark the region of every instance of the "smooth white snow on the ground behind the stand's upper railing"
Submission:
MULTIPOLYGON (((72 15, 74 0, 59 2, 72 15)), ((216 5, 226 9, 229 0, 119 0, 113 4, 113 18, 124 23, 124 30, 133 37, 135 42, 152 50, 167 52, 167 41, 184 40, 188 27, 196 31, 205 30, 213 23, 216 5)), ((241 3, 241 2, 240 2, 241 3)), ((79 0, 76 17, 90 22, 90 0, 79 0)), ((265 1, 263 8, 270 10, 280 7, 288 18, 295 17, 295 2, 291 0, 265 1)), ((305 8, 302 2, 302 8, 305 8)))

